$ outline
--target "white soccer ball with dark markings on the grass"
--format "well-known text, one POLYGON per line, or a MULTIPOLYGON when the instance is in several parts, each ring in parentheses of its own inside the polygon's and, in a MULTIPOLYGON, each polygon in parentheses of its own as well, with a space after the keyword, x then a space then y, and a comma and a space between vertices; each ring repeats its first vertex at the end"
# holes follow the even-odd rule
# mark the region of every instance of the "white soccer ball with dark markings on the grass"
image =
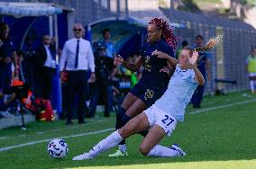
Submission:
POLYGON ((64 139, 52 139, 47 147, 48 154, 51 158, 64 158, 69 152, 68 144, 64 139))

